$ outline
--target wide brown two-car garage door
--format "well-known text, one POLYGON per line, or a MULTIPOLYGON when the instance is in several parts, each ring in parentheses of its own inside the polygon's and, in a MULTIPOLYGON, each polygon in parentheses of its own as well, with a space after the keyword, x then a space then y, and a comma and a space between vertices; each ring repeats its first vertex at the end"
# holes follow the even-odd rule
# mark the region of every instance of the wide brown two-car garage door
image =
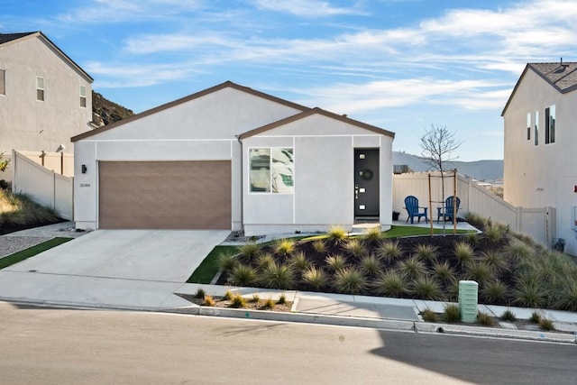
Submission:
POLYGON ((231 162, 101 161, 99 228, 230 229, 231 162))

